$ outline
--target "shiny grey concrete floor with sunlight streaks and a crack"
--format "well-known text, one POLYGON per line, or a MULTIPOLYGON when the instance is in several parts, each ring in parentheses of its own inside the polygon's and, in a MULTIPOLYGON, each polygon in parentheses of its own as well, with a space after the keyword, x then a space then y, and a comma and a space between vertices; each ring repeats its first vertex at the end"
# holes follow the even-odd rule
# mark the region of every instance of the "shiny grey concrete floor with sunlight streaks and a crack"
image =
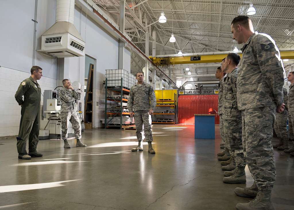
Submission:
MULTIPOLYGON (((250 199, 223 184, 215 140, 195 140, 192 125, 154 125, 156 154, 131 152, 136 131, 85 131, 86 148, 40 140, 41 158, 17 159, 16 140, 0 141, 0 209, 235 209, 250 199)), ((274 143, 278 140, 273 140, 274 143)), ((294 157, 275 149, 275 209, 294 209, 294 157)))

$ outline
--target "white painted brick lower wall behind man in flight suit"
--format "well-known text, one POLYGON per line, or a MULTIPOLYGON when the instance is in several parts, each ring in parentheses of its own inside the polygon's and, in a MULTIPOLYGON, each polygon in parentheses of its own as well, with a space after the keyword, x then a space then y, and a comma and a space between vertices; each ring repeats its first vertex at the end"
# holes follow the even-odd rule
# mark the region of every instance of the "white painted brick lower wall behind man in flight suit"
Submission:
MULTIPOLYGON (((18 135, 21 118, 21 107, 17 104, 14 94, 19 84, 31 76, 30 73, 0 67, 0 136, 18 135)), ((53 90, 56 87, 56 79, 42 77, 38 80, 42 94, 44 90, 53 90)), ((43 105, 43 96, 41 96, 43 105)))

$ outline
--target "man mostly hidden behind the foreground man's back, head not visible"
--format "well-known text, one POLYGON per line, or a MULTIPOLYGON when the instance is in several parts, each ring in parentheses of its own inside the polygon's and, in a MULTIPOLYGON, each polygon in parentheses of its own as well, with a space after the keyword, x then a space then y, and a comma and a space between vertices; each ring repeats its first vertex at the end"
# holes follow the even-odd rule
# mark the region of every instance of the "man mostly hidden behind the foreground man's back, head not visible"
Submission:
POLYGON ((287 89, 283 87, 283 94, 284 94, 284 103, 285 103, 285 110, 282 113, 276 113, 276 121, 275 121, 275 132, 280 139, 279 144, 273 145, 273 148, 278 148, 278 150, 285 150, 289 149, 288 139, 289 139, 289 132, 287 129, 287 120, 288 120, 288 92, 287 89))

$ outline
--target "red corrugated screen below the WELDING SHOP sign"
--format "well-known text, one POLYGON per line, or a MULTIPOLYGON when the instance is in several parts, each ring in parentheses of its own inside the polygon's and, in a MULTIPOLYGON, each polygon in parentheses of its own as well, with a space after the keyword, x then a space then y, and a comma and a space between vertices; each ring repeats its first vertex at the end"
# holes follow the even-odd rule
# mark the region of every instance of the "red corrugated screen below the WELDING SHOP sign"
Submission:
MULTIPOLYGON (((218 95, 180 95, 178 97, 178 123, 194 124, 194 114, 218 111, 218 95)), ((216 124, 219 124, 216 115, 216 124)))

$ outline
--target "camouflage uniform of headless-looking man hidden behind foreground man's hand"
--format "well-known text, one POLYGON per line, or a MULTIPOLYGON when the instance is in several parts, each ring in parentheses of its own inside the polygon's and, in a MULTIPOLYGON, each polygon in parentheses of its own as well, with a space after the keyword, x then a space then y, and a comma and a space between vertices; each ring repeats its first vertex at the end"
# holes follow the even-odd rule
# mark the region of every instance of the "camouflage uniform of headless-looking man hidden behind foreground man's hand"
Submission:
POLYGON ((287 130, 287 120, 288 120, 288 92, 287 89, 283 87, 284 94, 284 104, 286 109, 282 113, 276 113, 275 121, 275 132, 280 140, 287 141, 289 139, 289 132, 287 130))

